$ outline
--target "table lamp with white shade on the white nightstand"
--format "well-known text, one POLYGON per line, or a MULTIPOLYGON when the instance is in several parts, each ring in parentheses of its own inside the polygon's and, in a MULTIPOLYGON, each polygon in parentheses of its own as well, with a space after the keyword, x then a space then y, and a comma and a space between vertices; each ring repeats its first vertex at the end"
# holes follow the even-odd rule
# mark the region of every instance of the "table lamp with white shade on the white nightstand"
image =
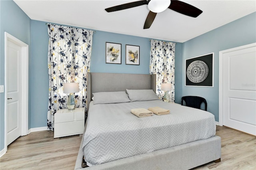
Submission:
POLYGON ((75 97, 74 93, 79 92, 79 86, 78 83, 63 83, 63 93, 69 93, 68 96, 68 110, 72 111, 75 109, 75 97))

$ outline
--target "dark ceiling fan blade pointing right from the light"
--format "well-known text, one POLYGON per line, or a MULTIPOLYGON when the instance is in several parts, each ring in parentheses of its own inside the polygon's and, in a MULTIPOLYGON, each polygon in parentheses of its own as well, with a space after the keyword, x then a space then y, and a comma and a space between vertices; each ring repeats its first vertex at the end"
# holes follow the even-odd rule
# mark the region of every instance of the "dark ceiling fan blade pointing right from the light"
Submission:
POLYGON ((202 14, 202 10, 179 0, 171 0, 171 4, 168 8, 179 12, 180 14, 191 16, 194 18, 202 14))

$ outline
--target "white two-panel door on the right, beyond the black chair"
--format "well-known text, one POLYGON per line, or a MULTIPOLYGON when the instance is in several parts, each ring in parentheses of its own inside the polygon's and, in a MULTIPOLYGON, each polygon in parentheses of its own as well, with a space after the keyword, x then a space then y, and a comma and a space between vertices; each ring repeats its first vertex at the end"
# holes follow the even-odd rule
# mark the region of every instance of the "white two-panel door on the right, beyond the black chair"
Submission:
POLYGON ((223 53, 223 125, 256 135, 256 46, 223 53))

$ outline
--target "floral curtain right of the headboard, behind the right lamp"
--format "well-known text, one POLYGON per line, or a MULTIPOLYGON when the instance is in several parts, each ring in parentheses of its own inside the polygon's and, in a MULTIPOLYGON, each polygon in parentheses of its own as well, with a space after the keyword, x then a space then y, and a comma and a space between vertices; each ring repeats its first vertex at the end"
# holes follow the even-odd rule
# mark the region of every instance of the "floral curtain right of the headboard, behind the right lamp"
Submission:
POLYGON ((175 43, 159 40, 150 40, 150 74, 156 74, 156 94, 163 100, 162 83, 172 83, 172 90, 168 92, 169 98, 174 102, 174 60, 175 43))

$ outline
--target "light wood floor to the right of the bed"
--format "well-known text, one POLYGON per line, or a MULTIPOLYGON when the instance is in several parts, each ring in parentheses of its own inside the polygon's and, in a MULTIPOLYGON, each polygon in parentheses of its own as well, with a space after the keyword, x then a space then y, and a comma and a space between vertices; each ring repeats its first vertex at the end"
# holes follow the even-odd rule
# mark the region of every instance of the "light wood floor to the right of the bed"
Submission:
POLYGON ((208 163, 196 170, 256 170, 256 137, 237 130, 216 126, 221 137, 221 162, 208 163))

